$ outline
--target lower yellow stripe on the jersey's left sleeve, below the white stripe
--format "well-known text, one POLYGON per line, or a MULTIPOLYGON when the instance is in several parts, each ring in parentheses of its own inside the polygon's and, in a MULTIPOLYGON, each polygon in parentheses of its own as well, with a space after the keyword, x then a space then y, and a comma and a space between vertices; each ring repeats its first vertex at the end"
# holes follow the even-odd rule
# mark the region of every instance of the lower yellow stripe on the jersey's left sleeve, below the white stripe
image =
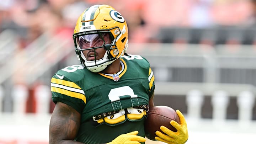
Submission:
POLYGON ((79 98, 82 101, 84 101, 84 103, 86 103, 86 98, 85 98, 84 94, 80 94, 78 92, 73 92, 73 91, 61 89, 61 88, 54 87, 54 86, 51 86, 51 91, 52 92, 58 92, 60 94, 67 95, 67 96, 70 96, 70 97, 79 98))

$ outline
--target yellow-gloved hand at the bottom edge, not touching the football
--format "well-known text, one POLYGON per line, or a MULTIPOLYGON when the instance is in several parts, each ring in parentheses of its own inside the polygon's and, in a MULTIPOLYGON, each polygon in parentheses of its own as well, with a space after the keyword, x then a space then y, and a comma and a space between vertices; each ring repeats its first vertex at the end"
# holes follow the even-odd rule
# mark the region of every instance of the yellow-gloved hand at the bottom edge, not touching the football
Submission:
POLYGON ((126 134, 121 134, 112 140, 112 142, 107 144, 140 144, 140 142, 145 142, 146 139, 137 135, 138 133, 138 131, 133 131, 126 134))

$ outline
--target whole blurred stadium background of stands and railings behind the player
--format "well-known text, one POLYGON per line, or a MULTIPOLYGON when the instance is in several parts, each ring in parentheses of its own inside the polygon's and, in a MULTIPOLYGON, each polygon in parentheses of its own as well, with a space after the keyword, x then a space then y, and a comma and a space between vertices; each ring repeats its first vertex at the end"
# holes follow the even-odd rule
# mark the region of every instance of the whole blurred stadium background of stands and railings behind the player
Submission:
POLYGON ((50 79, 79 64, 73 28, 94 4, 126 18, 127 52, 151 63, 155 105, 185 115, 187 144, 254 143, 255 0, 1 0, 0 144, 48 143, 50 79))

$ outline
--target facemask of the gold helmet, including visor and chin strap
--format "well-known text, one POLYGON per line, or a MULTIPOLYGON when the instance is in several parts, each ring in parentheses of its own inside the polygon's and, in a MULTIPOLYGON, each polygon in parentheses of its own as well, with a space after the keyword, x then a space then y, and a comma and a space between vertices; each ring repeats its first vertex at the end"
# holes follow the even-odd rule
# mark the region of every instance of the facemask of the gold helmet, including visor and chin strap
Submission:
MULTIPOLYGON (((118 33, 118 35, 122 34, 119 28, 112 28, 112 30, 113 29, 115 29, 114 32, 118 33)), ((92 72, 97 73, 104 70, 107 65, 114 62, 119 55, 115 44, 116 39, 114 39, 111 30, 80 32, 74 34, 73 39, 76 54, 78 54, 81 64, 92 72), (104 48, 106 50, 102 58, 96 58, 96 49, 98 48, 104 48), (90 55, 85 56, 83 53, 84 50, 90 51, 90 55), (116 56, 113 57, 111 52, 116 56)))

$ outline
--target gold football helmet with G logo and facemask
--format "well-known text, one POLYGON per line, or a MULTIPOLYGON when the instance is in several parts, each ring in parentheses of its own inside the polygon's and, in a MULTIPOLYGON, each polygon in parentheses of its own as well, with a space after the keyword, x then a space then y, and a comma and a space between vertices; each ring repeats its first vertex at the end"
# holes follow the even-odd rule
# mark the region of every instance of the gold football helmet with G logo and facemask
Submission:
POLYGON ((126 52, 128 47, 127 23, 113 7, 94 5, 82 12, 78 18, 73 39, 80 63, 90 71, 97 73, 126 52), (95 53, 97 48, 106 49, 101 59, 96 59, 96 54, 92 54, 95 58, 87 60, 82 53, 83 50, 91 50, 95 53))

